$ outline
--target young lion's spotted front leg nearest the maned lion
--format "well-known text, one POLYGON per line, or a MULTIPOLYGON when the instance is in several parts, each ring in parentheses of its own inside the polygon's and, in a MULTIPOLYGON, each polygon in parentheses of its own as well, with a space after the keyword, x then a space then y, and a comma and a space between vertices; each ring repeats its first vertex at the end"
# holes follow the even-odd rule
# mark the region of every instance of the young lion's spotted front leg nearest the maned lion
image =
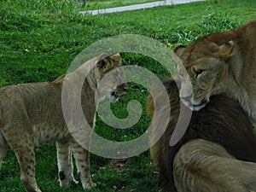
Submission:
POLYGON ((90 157, 89 151, 84 149, 79 143, 73 141, 72 152, 76 160, 79 178, 84 189, 91 189, 96 186, 96 183, 91 181, 90 177, 90 157))

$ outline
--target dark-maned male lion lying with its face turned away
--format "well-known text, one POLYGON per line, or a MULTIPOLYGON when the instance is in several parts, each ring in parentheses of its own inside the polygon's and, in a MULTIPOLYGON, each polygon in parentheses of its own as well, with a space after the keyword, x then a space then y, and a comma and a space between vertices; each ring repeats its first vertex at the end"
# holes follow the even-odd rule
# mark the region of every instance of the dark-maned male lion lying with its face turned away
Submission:
MULTIPOLYGON (((243 162, 256 162, 256 137, 253 125, 239 103, 225 95, 212 96, 207 107, 192 113, 187 131, 171 147, 170 140, 183 102, 180 102, 174 80, 168 80, 164 85, 171 104, 170 121, 163 136, 151 148, 154 163, 160 168, 160 187, 166 191, 178 189, 179 192, 256 190, 256 164, 243 162), (230 181, 231 178, 234 180, 230 181), (237 190, 230 190, 230 183, 237 190)), ((154 89, 161 92, 157 91, 158 87, 154 89)), ((161 100, 161 95, 154 96, 154 100, 161 100)), ((148 113, 154 113, 151 96, 148 96, 148 113)), ((152 125, 150 141, 158 135, 159 124, 152 125)))

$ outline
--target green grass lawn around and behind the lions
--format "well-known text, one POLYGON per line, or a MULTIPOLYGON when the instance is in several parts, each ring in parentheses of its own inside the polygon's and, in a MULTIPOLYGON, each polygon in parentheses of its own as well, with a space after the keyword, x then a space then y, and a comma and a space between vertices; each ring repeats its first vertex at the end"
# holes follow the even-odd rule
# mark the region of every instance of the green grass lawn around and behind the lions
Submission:
MULTIPOLYGON (((190 44, 210 32, 222 32, 256 19, 254 0, 212 0, 111 15, 79 15, 81 6, 67 1, 0 2, 0 87, 9 84, 51 81, 66 73, 76 55, 102 38, 140 34, 159 40, 171 49, 190 44)), ((171 78, 159 62, 148 56, 121 53, 124 65, 146 67, 160 79, 171 78)), ((145 102, 148 91, 130 84, 129 94, 112 105, 118 117, 127 115, 126 105, 136 99, 142 118, 132 128, 115 130, 97 117, 96 132, 113 141, 127 141, 146 131, 150 119, 145 102)), ((80 185, 60 189, 57 181, 55 145, 36 148, 37 180, 43 191, 84 191, 80 185)), ((158 175, 148 151, 118 164, 91 155, 91 191, 159 191, 158 175)), ((0 191, 24 191, 15 154, 9 150, 0 172, 0 191)))

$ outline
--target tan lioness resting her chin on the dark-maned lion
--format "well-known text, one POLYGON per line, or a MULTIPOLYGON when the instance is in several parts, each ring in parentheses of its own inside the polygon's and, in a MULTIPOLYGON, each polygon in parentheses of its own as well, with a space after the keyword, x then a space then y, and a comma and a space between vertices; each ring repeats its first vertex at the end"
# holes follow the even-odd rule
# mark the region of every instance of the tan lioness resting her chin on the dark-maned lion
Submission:
POLYGON ((229 32, 198 38, 187 47, 177 44, 174 60, 181 61, 177 61, 177 73, 183 79, 180 96, 184 104, 198 111, 210 96, 227 93, 240 102, 256 125, 255 34, 256 21, 252 21, 229 32))

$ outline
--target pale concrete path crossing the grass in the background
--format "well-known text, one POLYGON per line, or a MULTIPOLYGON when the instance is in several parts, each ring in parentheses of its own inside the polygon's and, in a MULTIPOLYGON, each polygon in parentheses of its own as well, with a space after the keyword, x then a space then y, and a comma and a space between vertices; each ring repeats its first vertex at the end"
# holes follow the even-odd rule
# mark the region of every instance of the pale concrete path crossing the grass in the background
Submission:
POLYGON ((89 14, 89 15, 99 15, 99 14, 110 14, 121 11, 129 11, 129 10, 137 10, 137 9, 148 9, 165 5, 174 5, 174 4, 183 4, 183 3, 192 3, 192 2, 201 2, 205 0, 165 0, 153 3, 142 3, 135 4, 124 7, 110 8, 110 9, 97 9, 97 10, 89 10, 89 11, 81 11, 80 14, 89 14))

